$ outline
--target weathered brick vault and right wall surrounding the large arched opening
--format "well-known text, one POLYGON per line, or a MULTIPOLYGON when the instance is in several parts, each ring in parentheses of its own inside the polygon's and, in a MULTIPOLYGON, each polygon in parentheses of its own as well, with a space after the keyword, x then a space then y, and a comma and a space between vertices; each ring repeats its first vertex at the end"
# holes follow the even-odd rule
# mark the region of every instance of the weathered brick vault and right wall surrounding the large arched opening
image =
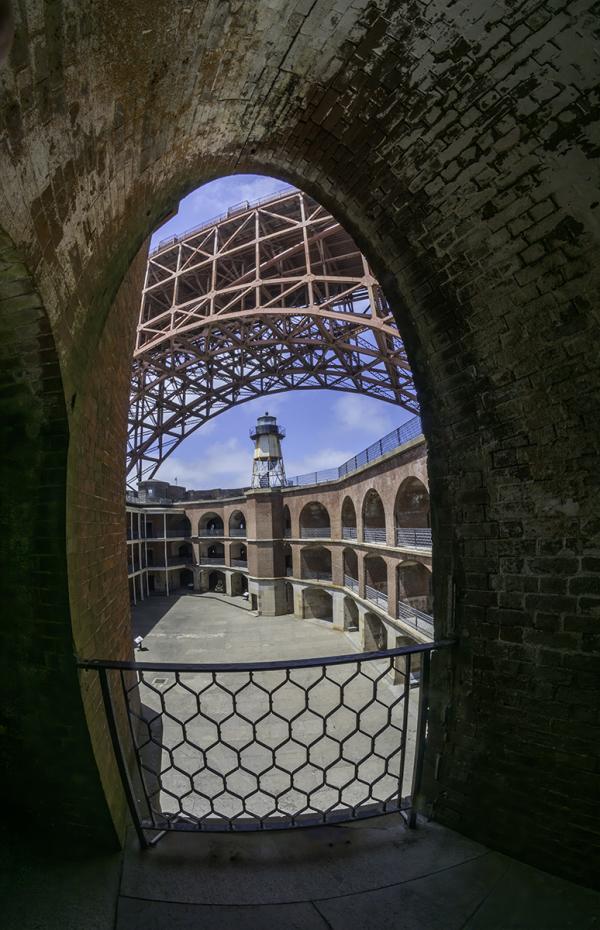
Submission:
MULTIPOLYGON (((151 20, 140 0, 24 0, 15 13, 0 225, 47 310, 69 416, 125 269, 183 192, 263 169, 329 206, 384 285, 414 369, 441 617, 456 580, 460 645, 433 716, 437 816, 593 876, 592 0, 158 0, 151 20)), ((109 483, 121 461, 115 448, 103 463, 109 483)))

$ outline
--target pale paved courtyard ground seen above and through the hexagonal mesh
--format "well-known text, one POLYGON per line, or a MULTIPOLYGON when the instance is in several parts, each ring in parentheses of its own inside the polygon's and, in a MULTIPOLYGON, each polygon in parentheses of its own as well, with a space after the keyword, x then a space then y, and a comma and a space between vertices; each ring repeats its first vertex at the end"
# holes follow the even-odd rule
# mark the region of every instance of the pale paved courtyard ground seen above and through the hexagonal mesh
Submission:
MULTIPOLYGON (((138 658, 232 663, 358 651, 321 621, 257 617, 218 595, 151 599, 134 618, 138 658)), ((252 672, 144 673, 138 739, 157 822, 349 816, 410 793, 418 689, 404 709, 388 661, 252 672), (157 776, 160 774, 160 778, 157 776)))

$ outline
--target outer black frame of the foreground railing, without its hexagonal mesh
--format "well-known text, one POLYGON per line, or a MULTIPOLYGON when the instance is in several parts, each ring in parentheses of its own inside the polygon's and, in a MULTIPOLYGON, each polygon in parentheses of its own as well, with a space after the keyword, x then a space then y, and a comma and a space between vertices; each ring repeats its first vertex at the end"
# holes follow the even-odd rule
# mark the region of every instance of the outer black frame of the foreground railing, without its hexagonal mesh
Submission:
MULTIPOLYGON (((248 832, 265 829, 297 829, 311 826, 323 826, 328 823, 340 823, 350 820, 360 820, 369 817, 380 816, 386 813, 400 813, 405 817, 408 825, 412 828, 416 826, 417 811, 415 799, 420 792, 420 786, 423 773, 423 756, 427 735, 427 718, 430 702, 430 662, 431 654, 438 649, 446 649, 453 645, 451 640, 441 640, 439 642, 417 644, 413 646, 402 646, 396 649, 381 650, 376 652, 352 653, 342 656, 328 656, 311 659, 280 660, 275 662, 255 662, 255 663, 235 663, 235 664, 187 664, 187 663, 156 663, 156 662, 127 662, 127 661, 107 661, 107 660, 81 660, 77 662, 77 667, 83 673, 94 673, 98 676, 102 694, 102 702, 106 715, 106 722, 115 754, 117 767, 119 770, 122 786, 126 796, 129 811, 133 820, 137 837, 142 848, 155 845, 163 836, 169 832, 248 832), (411 696, 411 659, 413 656, 420 656, 420 684, 417 705, 417 723, 415 729, 415 753, 413 761, 413 770, 411 776, 411 792, 409 796, 403 796, 402 787, 404 784, 405 760, 406 760, 406 741, 407 741, 407 723, 409 704, 411 696), (377 801, 366 805, 360 803, 353 807, 351 811, 342 813, 332 811, 331 809, 319 813, 317 816, 304 816, 301 814, 289 814, 287 818, 269 819, 268 817, 255 818, 250 821, 239 821, 236 819, 221 818, 211 821, 210 823, 190 823, 189 820, 182 820, 181 815, 175 816, 168 822, 157 823, 152 812, 152 806, 148 798, 148 788, 142 773, 142 761, 140 757, 140 747, 136 742, 134 727, 132 724, 132 712, 129 704, 128 689, 125 676, 136 676, 137 684, 129 688, 132 691, 144 682, 145 672, 167 673, 175 676, 175 682, 179 683, 181 675, 191 673, 209 674, 216 680, 217 675, 226 675, 229 673, 245 673, 249 676, 249 681, 253 681, 252 674, 258 672, 269 672, 283 670, 286 673, 286 681, 289 680, 291 670, 307 668, 329 668, 333 666, 346 665, 354 663, 358 667, 362 663, 377 662, 378 660, 387 660, 389 670, 397 669, 396 660, 400 659, 404 663, 404 690, 402 693, 402 728, 395 726, 394 729, 401 733, 401 742, 399 745, 400 769, 397 776, 398 789, 393 798, 385 801, 377 801), (111 685, 111 674, 118 673, 118 688, 116 689, 118 697, 115 694, 115 688, 111 685), (118 701, 121 701, 119 707, 118 701), (123 718, 126 718, 126 722, 123 718), (133 761, 132 761, 133 760, 133 761), (138 782, 138 787, 135 787, 138 782), (140 792, 141 786, 141 792, 140 792), (140 799, 136 798, 138 794, 143 793, 147 802, 151 819, 144 818, 140 807, 140 799), (149 836, 148 834, 153 834, 149 836)), ((361 670, 362 673, 362 670, 361 670)), ((359 674, 358 670, 355 673, 359 674)), ((387 673, 385 673, 387 674, 387 673)), ((352 676, 354 677, 354 676, 352 676)), ((383 677, 383 673, 382 676, 383 677)), ((378 681, 380 678, 377 679, 378 681)), ((147 685, 146 682, 144 684, 147 685)), ((149 687, 147 685, 147 687, 149 687)), ((398 699, 393 707, 399 703, 398 699)), ((162 706, 162 703, 161 703, 162 706)), ((343 703, 339 705, 345 707, 343 703)), ((370 706, 370 705, 367 705, 370 706)), ((164 711, 166 714, 167 712, 164 711)), ((388 723, 390 722, 391 710, 388 711, 388 723)), ((326 717, 323 718, 326 720, 326 717)), ((193 744, 192 744, 193 745, 193 744)), ((227 745, 225 743, 225 745, 227 745)), ((161 745, 161 749, 165 747, 161 745)), ((198 748, 198 747, 196 747, 198 748)), ((158 773, 162 775, 162 769, 158 773)), ((230 773, 226 773, 228 777, 230 773)), ((410 774, 410 773, 409 773, 410 774)), ((162 787, 162 786, 161 786, 162 787)), ((269 792, 267 792, 269 793, 269 792)), ((348 805, 346 805, 348 806, 348 805)))

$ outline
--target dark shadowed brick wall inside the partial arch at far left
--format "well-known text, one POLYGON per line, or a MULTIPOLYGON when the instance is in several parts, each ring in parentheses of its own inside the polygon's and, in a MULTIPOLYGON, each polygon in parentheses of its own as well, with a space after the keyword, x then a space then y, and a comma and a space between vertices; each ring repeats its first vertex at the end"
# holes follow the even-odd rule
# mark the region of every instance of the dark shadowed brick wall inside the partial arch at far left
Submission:
POLYGON ((71 846, 74 837, 110 845, 116 837, 73 657, 65 547, 69 430, 60 369, 39 294, 1 231, 0 371, 5 826, 14 821, 21 833, 41 830, 50 844, 67 836, 71 846))

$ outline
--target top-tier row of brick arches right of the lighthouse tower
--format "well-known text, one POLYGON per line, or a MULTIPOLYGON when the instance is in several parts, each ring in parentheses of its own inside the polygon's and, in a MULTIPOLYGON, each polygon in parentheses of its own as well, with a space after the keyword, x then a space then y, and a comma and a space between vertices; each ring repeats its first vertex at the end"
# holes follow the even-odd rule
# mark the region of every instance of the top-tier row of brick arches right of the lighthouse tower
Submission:
MULTIPOLYGON (((381 495, 374 488, 370 488, 364 495, 359 513, 361 541, 380 545, 389 543, 386 508, 381 495)), ((429 492, 419 478, 410 476, 400 485, 394 501, 393 522, 392 538, 395 545, 431 545, 429 492)), ((342 539, 358 540, 357 507, 350 495, 342 502, 340 524, 342 539)), ((290 509, 286 505, 283 526, 285 537, 332 537, 331 515, 320 501, 310 501, 302 508, 297 533, 293 531, 290 509)))

